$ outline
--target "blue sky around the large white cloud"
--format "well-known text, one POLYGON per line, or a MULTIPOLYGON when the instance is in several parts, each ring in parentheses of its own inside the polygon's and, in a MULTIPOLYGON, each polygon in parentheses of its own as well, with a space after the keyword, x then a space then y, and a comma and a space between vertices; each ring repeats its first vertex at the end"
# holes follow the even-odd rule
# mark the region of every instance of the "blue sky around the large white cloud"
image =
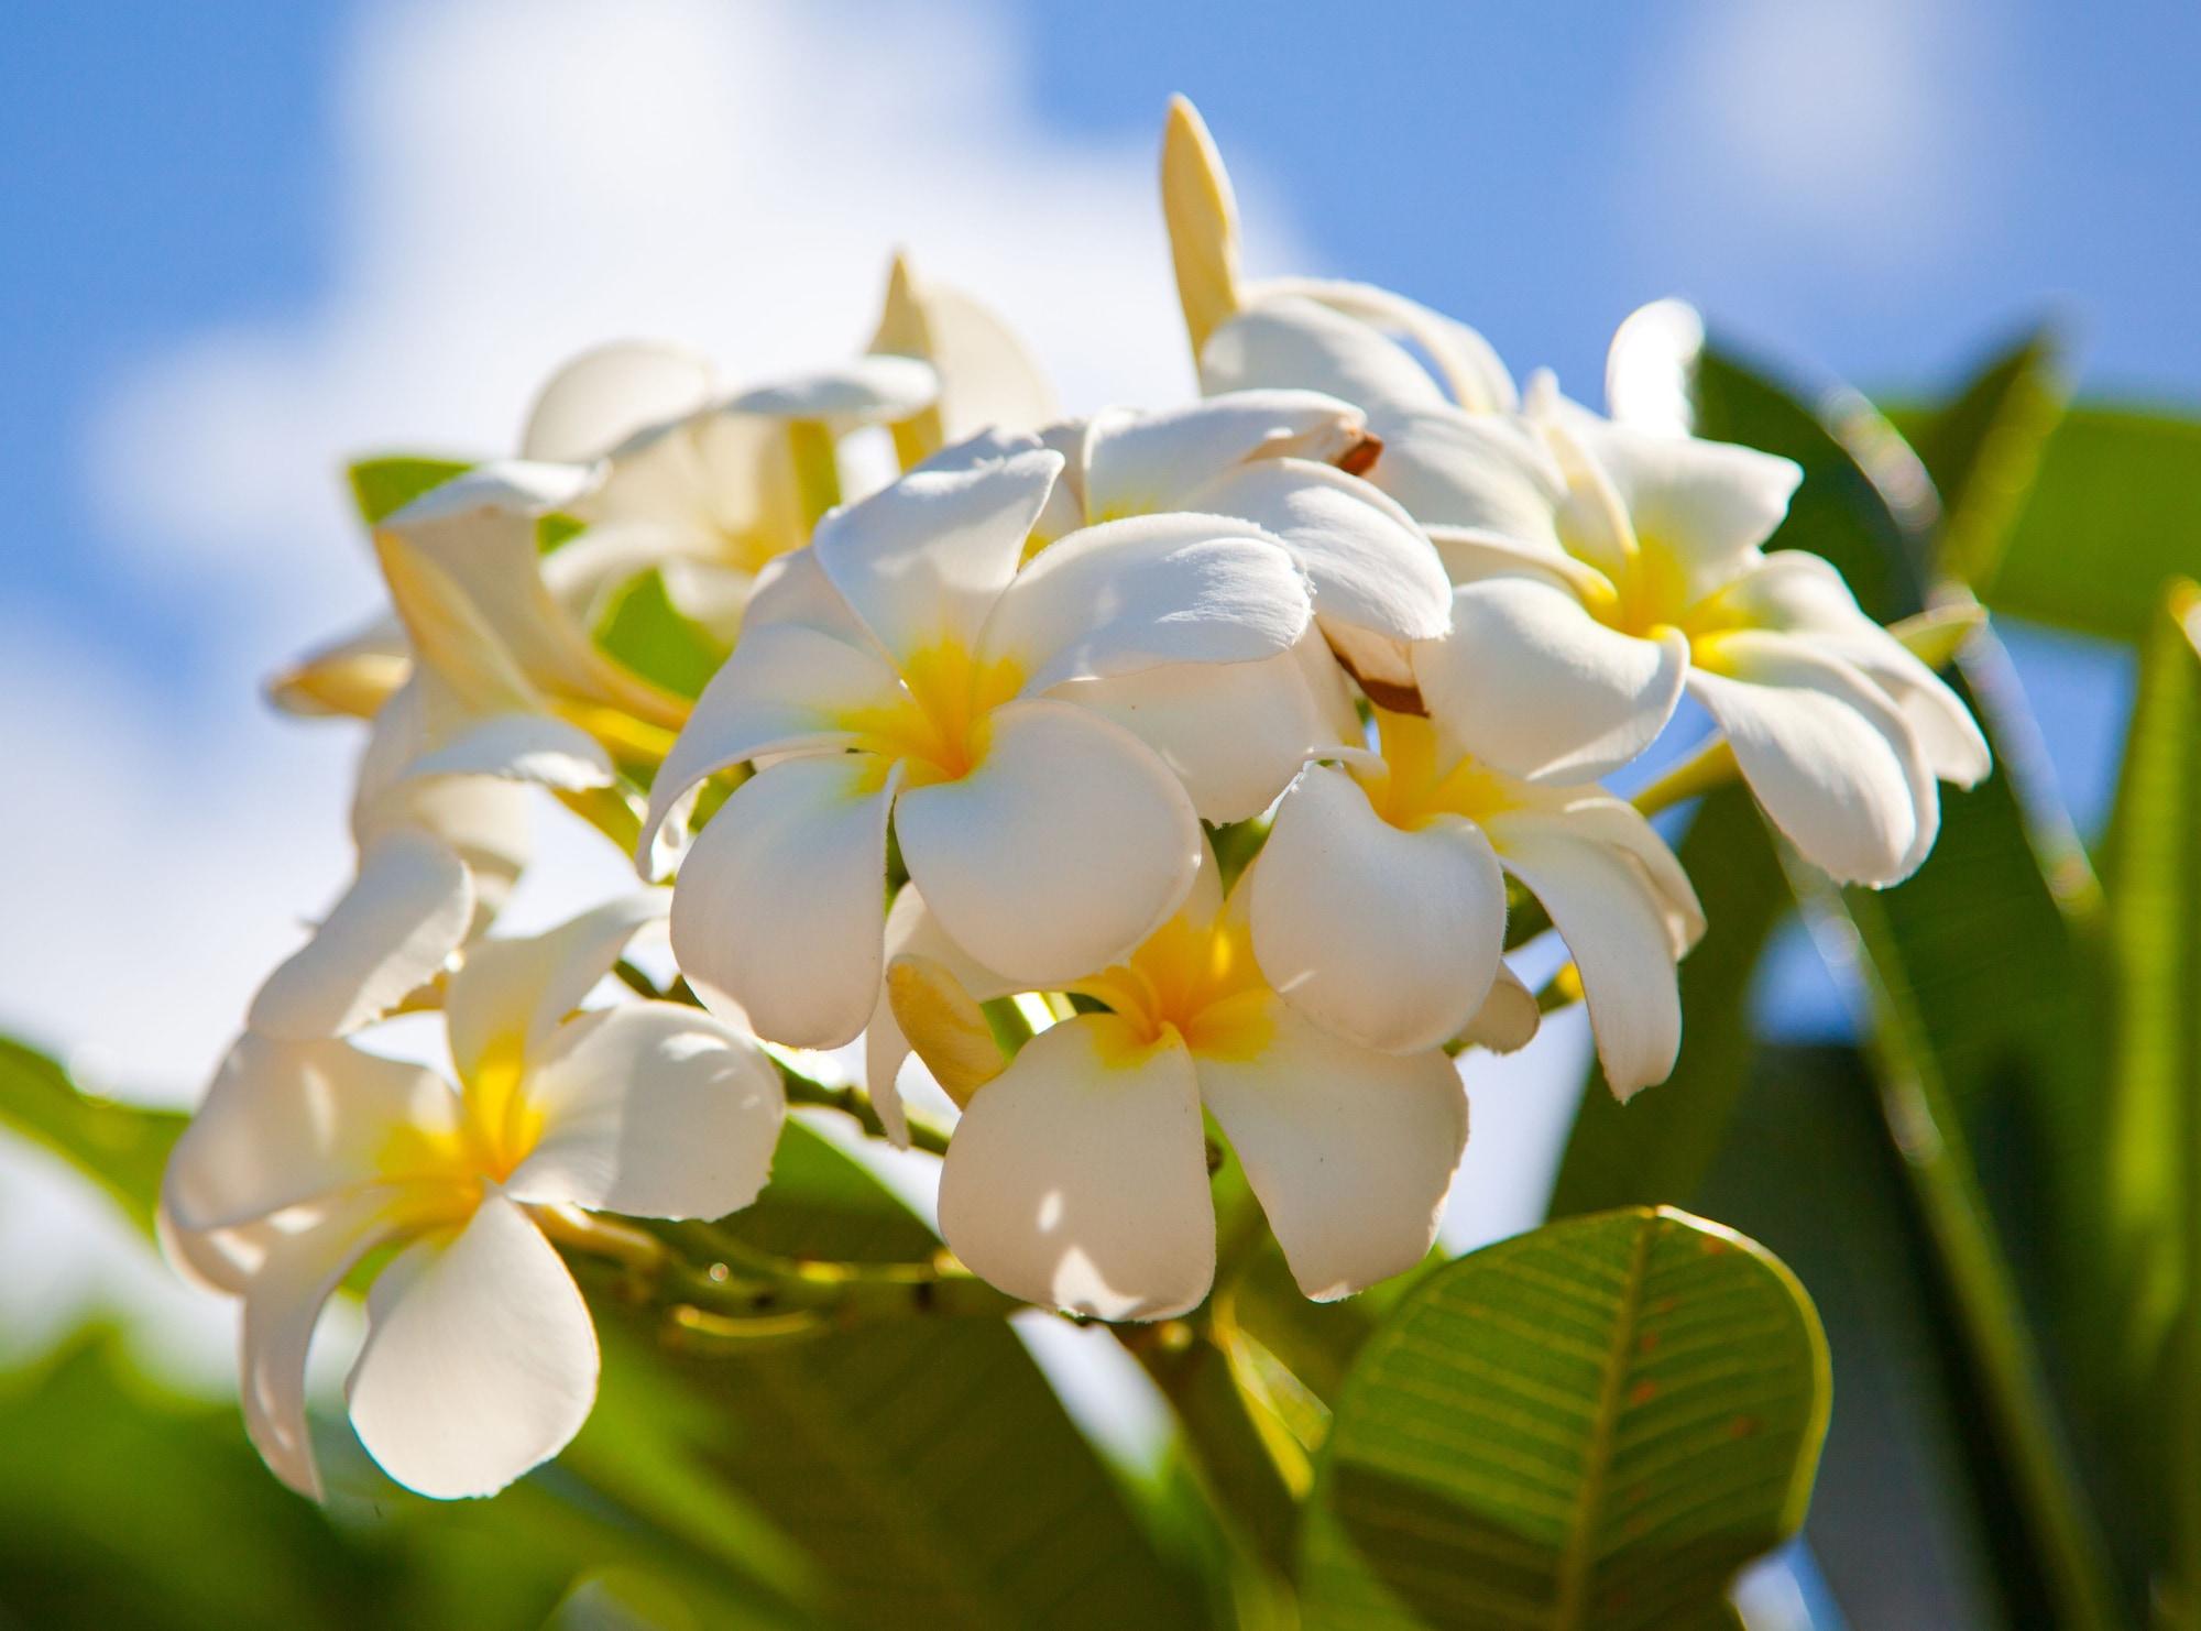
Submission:
MULTIPOLYGON (((1930 385, 2060 310, 2089 385, 2201 396, 2201 13, 1750 11, 1136 0, 1001 18, 1041 123, 1147 143, 1162 99, 1189 90, 1325 262, 1583 385, 1622 313, 1679 291, 1767 354, 1869 387, 1930 385), (1855 152, 1739 158, 1706 103, 1752 62, 1814 108, 1783 121, 1803 145, 1855 152), (1827 202, 1767 205, 1783 191, 1827 202)), ((863 35, 852 24, 847 48, 863 35)), ((134 660, 167 674, 189 674, 213 632, 112 563, 88 423, 165 339, 326 288, 348 180, 332 86, 357 37, 354 7, 40 7, 0 62, 11 596, 119 623, 134 660)))

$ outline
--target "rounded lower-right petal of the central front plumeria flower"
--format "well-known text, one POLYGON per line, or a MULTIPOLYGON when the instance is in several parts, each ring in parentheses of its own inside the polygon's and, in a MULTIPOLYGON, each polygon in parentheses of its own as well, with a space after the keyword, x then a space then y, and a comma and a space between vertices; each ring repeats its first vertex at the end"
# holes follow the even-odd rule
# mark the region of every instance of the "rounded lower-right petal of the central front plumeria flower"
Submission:
POLYGON ((905 792, 894 832, 949 935, 1028 986, 1131 951, 1184 900, 1202 843, 1191 799, 1151 748, 1050 700, 999 709, 977 768, 905 792))

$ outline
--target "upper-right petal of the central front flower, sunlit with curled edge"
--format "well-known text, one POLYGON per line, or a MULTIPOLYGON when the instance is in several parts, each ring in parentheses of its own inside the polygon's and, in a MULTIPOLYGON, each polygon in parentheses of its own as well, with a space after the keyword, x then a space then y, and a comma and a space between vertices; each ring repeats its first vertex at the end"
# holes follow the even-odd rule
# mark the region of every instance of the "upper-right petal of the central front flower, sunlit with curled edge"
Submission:
POLYGON ((986 623, 1026 696, 1160 663, 1257 663, 1307 627, 1307 581, 1277 539, 1222 515, 1138 515, 1043 548, 986 623))

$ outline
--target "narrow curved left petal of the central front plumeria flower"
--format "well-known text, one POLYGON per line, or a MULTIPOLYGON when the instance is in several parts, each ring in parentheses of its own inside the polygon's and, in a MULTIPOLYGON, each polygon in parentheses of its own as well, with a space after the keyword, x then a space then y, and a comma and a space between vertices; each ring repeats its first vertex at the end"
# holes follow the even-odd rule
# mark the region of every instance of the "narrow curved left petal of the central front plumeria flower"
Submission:
POLYGON ((658 828, 704 777, 762 753, 852 746, 850 715, 900 702, 900 682, 869 641, 852 645, 808 623, 753 619, 649 784, 636 865, 654 869, 658 828))

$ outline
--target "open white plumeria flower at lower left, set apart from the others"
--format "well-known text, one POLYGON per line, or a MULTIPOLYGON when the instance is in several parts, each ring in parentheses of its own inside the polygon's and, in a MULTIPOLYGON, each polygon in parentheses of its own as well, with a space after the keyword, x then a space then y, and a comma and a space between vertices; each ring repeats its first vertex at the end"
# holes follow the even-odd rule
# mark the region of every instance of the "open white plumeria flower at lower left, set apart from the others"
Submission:
POLYGON ((401 1246, 368 1299, 346 1384, 390 1477, 491 1495, 557 1455, 596 1393, 596 1334, 544 1237, 561 1208, 718 1217, 764 1186, 779 1076, 693 1008, 574 1015, 663 891, 530 940, 478 944, 451 977, 460 1090, 346 1041, 247 1035, 169 1162, 163 1237, 244 1301, 244 1424, 321 1495, 306 1349, 346 1274, 401 1246))

